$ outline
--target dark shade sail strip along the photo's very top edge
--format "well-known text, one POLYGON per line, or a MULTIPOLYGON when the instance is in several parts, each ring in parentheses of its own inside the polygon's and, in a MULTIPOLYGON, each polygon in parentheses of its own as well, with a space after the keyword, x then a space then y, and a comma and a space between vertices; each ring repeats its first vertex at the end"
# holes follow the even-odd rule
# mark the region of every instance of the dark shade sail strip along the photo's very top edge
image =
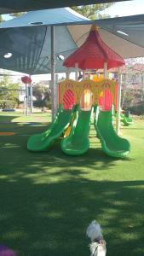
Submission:
POLYGON ((0 14, 10 14, 37 9, 53 9, 66 6, 78 6, 91 3, 112 3, 121 1, 123 0, 69 0, 67 3, 66 0, 0 0, 0 14))

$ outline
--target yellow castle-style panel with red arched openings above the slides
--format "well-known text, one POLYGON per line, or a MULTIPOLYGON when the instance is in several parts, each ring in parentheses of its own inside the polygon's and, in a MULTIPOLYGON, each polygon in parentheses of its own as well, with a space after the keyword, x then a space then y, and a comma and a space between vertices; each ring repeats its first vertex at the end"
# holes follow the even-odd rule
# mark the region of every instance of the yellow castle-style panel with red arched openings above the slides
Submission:
POLYGON ((59 84, 59 104, 63 104, 64 109, 72 109, 72 106, 78 103, 81 109, 84 110, 89 109, 89 106, 95 104, 104 110, 110 110, 113 104, 115 110, 117 110, 117 82, 107 79, 105 83, 102 75, 100 78, 92 78, 92 80, 86 79, 82 82, 73 82, 72 80, 69 80, 69 82, 66 80, 59 84))

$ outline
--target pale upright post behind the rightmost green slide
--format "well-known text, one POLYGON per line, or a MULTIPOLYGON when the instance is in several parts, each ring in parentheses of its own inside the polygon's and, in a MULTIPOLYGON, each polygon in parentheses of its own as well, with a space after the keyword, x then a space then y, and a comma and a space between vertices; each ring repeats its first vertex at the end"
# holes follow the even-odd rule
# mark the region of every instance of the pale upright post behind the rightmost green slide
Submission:
POLYGON ((116 119, 116 131, 119 135, 120 133, 120 111, 121 111, 121 88, 122 88, 122 74, 118 75, 118 109, 117 109, 117 119, 116 119))

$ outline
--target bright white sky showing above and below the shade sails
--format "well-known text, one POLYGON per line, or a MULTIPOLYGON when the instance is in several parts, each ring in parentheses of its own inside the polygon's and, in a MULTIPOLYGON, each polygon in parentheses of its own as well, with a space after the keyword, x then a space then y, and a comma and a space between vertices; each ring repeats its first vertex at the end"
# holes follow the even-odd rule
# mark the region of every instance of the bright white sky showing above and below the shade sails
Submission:
MULTIPOLYGON (((144 0, 132 0, 114 3, 112 7, 101 12, 101 14, 107 14, 111 17, 116 15, 118 16, 129 16, 129 15, 141 15, 144 14, 144 0)), ((9 20, 9 15, 3 15, 4 20, 9 20)), ((64 74, 61 74, 59 77, 62 77, 64 74)), ((20 78, 20 77, 19 77, 20 78)), ((16 78, 15 78, 16 79, 16 78)), ((32 80, 37 82, 39 80, 48 80, 50 75, 34 75, 32 80)))

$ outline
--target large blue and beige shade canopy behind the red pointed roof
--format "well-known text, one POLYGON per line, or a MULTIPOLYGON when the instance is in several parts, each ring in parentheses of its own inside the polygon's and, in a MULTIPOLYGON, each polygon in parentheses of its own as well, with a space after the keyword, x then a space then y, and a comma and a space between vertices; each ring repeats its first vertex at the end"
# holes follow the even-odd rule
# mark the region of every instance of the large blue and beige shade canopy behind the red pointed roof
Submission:
POLYGON ((51 73, 52 25, 55 25, 55 73, 66 71, 63 58, 84 44, 92 23, 100 27, 102 40, 123 58, 144 56, 142 19, 144 15, 88 20, 69 8, 29 12, 0 26, 0 68, 28 74, 51 73), (8 53, 12 56, 5 58, 8 53))

